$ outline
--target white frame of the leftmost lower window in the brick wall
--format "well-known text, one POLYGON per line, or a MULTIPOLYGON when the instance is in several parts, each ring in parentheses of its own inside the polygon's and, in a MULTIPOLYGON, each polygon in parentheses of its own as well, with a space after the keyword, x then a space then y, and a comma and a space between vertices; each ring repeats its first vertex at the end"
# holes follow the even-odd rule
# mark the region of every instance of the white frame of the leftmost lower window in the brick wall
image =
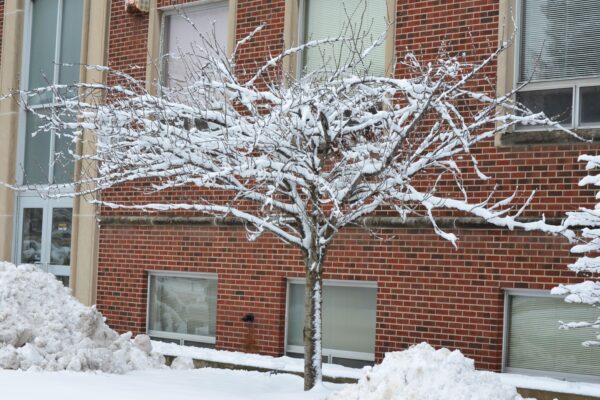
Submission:
MULTIPOLYGON (((173 333, 165 331, 154 331, 150 327, 150 281, 152 277, 165 276, 173 278, 190 278, 190 279, 204 279, 213 280, 217 283, 217 295, 219 291, 219 279, 218 274, 205 273, 205 272, 179 272, 179 271, 164 271, 164 270, 146 270, 148 275, 148 286, 146 290, 146 334, 150 337, 157 339, 168 339, 168 340, 179 340, 179 344, 183 345, 185 341, 206 343, 209 345, 215 345, 216 343, 216 332, 215 336, 202 336, 202 335, 191 335, 185 333, 173 333)), ((218 304, 215 303, 215 307, 218 308, 218 304)), ((217 309, 215 309, 215 314, 217 309)), ((218 321, 217 321, 218 324, 218 321)))

